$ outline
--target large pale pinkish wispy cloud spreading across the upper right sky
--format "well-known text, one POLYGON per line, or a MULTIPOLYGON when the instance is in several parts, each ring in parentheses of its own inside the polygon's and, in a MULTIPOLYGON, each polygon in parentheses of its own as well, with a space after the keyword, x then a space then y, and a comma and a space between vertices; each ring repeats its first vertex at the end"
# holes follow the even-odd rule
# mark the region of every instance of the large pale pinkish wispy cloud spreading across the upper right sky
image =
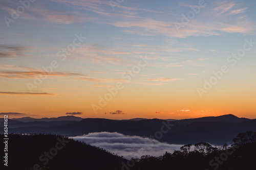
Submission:
MULTIPOLYGON (((180 32, 177 32, 170 20, 164 21, 145 17, 113 20, 109 24, 115 27, 126 28, 127 30, 124 30, 126 33, 152 36, 161 34, 168 37, 220 35, 220 32, 255 33, 255 25, 250 20, 246 19, 241 23, 236 19, 230 18, 232 15, 242 14, 247 8, 239 8, 236 3, 230 1, 212 4, 208 4, 208 10, 202 11, 197 18, 191 20, 180 32), (210 23, 206 24, 209 20, 210 23)), ((180 19, 181 16, 175 17, 173 22, 180 21, 180 19)))

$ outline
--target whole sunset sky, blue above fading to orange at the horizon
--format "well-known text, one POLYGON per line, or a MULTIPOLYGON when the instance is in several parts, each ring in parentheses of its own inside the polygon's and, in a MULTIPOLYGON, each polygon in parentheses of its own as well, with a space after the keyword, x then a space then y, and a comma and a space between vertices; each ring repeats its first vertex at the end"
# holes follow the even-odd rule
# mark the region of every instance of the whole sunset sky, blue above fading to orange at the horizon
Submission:
POLYGON ((0 2, 0 114, 256 118, 255 1, 0 2))

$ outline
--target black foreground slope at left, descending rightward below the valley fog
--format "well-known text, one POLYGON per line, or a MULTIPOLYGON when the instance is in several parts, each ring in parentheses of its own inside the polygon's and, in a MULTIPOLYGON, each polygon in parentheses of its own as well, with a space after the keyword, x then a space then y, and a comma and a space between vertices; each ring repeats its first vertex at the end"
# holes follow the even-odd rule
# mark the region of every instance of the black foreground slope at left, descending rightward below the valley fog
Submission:
POLYGON ((8 167, 4 169, 121 169, 122 161, 125 159, 105 150, 62 136, 9 135, 8 167))

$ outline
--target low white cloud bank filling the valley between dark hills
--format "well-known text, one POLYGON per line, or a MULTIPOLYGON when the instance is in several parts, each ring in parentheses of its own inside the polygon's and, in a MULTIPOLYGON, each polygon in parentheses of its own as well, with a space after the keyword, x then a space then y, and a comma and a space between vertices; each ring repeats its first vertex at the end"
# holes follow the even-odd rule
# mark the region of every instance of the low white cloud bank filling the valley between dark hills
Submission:
POLYGON ((143 155, 161 156, 166 151, 180 150, 181 144, 169 144, 140 136, 127 136, 117 132, 97 132, 70 137, 87 144, 103 148, 126 159, 140 158, 143 155))

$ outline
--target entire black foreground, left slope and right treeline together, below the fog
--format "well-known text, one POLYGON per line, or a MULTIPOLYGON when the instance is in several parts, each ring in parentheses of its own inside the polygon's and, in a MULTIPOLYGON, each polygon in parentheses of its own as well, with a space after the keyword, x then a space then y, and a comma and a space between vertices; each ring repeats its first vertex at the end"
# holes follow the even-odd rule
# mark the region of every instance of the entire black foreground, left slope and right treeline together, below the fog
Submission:
MULTIPOLYGON (((3 134, 0 135, 4 138, 3 134)), ((4 146, 3 146, 4 148, 4 146)), ((4 152, 2 152, 4 153, 4 152)), ((10 134, 6 169, 256 169, 256 132, 240 133, 232 144, 215 147, 206 142, 186 144, 163 156, 126 160, 104 149, 52 134, 10 134)), ((4 157, 4 155, 3 155, 4 157)), ((3 158, 2 157, 2 158, 3 158)))

